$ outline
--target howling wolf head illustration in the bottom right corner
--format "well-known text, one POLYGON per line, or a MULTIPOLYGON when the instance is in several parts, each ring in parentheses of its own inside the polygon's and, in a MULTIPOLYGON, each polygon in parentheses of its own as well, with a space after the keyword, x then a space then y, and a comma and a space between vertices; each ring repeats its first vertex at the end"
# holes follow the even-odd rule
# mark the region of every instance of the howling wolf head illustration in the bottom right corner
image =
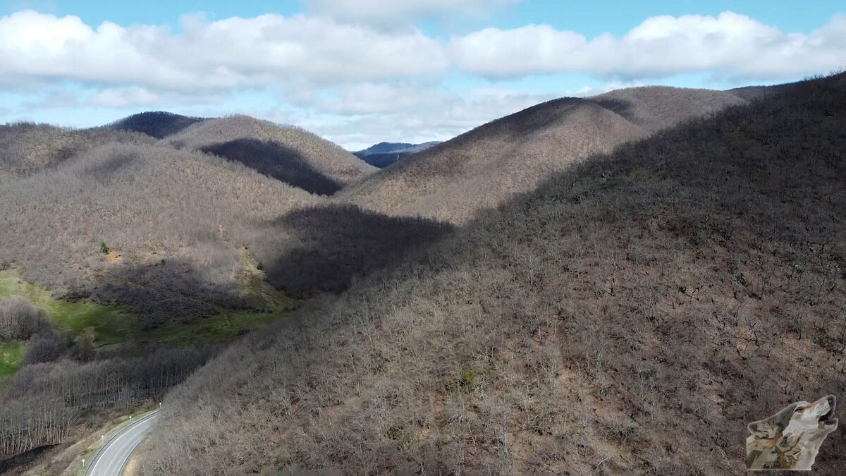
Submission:
POLYGON ((838 428, 833 395, 797 401, 766 420, 749 423, 746 469, 810 471, 822 440, 838 428))

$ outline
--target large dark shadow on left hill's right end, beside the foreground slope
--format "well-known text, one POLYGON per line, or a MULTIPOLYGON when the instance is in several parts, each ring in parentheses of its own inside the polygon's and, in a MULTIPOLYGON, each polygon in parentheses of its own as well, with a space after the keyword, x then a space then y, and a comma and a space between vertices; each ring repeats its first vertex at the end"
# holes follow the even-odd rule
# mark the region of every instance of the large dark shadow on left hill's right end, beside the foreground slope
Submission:
POLYGON ((307 208, 272 222, 299 241, 268 268, 267 280, 289 296, 346 289, 354 276, 398 262, 453 230, 431 219, 389 217, 351 205, 307 208))

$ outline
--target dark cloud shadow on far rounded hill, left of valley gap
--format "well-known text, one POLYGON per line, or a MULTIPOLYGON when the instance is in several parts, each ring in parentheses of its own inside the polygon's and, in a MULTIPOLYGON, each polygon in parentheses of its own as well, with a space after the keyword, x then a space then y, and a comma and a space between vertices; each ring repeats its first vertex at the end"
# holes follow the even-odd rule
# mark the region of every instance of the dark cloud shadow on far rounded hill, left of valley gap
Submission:
POLYGON ((244 138, 203 147, 202 151, 243 163, 310 193, 332 195, 342 186, 313 169, 296 149, 278 142, 244 138))

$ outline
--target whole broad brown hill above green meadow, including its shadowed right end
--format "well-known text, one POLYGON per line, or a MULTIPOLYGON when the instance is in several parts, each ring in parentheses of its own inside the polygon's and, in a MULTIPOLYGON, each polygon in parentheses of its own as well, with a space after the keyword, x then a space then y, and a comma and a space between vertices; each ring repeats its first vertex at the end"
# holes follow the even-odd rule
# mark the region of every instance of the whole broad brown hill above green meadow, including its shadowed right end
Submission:
POLYGON ((262 308, 250 296, 265 272, 289 295, 340 291, 450 228, 338 206, 163 143, 96 147, 0 184, 0 197, 0 269, 58 296, 127 306, 147 327, 262 308))

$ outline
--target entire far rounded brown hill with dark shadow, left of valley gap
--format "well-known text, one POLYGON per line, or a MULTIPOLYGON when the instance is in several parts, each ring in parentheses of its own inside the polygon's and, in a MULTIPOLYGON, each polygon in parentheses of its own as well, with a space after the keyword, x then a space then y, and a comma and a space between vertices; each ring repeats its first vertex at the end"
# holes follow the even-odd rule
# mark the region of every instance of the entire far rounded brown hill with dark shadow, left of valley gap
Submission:
POLYGON ((376 170, 306 130, 249 116, 208 119, 168 136, 166 141, 173 147, 242 162, 262 174, 324 195, 376 170), (249 152, 244 152, 247 149, 249 152))

